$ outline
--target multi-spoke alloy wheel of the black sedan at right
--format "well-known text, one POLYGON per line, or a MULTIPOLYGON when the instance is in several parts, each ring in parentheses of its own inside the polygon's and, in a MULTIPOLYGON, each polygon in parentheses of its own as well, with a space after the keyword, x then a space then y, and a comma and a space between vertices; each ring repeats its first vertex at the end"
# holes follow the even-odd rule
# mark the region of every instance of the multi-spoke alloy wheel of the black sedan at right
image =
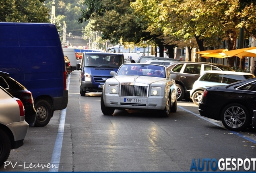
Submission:
POLYGON ((221 113, 223 125, 231 131, 243 131, 249 125, 249 113, 243 105, 227 105, 221 113))

